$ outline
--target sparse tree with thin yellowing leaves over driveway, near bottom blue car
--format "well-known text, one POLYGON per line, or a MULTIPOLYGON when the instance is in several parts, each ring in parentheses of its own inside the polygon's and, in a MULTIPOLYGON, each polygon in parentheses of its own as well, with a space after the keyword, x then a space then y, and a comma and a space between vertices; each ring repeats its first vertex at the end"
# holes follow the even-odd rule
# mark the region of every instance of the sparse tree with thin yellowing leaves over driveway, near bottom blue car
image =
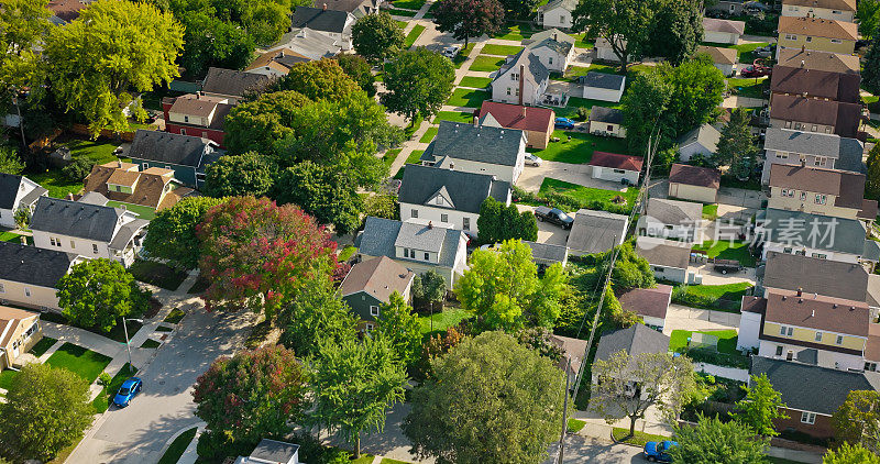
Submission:
POLYGON ((686 356, 669 353, 639 353, 630 356, 622 350, 607 360, 593 363, 590 408, 608 423, 629 418, 629 435, 636 431, 636 420, 645 417, 650 407, 675 417, 695 388, 694 368, 686 356), (629 394, 631 384, 639 385, 641 395, 629 394))

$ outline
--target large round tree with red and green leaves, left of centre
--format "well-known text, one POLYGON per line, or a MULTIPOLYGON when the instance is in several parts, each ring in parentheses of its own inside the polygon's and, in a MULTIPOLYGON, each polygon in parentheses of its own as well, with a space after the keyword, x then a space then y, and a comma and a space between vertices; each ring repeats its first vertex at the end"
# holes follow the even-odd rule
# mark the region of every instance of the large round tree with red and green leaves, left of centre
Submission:
POLYGON ((272 318, 304 280, 332 275, 336 243, 293 205, 235 197, 208 210, 197 228, 206 307, 228 301, 272 318))

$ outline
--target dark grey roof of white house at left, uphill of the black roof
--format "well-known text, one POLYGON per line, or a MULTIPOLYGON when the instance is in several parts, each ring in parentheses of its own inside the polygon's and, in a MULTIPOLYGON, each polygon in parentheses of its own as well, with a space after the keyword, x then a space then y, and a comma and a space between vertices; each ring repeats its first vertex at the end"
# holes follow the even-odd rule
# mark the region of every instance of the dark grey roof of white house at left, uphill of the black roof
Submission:
POLYGON ((31 217, 31 229, 110 242, 123 213, 122 209, 41 197, 31 217))

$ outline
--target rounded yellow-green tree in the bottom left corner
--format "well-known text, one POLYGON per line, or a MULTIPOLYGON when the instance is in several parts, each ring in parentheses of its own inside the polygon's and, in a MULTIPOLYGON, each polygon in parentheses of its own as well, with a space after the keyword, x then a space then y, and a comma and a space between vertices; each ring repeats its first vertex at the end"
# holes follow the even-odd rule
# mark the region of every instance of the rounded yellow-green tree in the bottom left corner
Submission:
POLYGON ((26 364, 0 404, 0 442, 15 462, 48 462, 76 443, 95 413, 89 386, 70 371, 26 364))

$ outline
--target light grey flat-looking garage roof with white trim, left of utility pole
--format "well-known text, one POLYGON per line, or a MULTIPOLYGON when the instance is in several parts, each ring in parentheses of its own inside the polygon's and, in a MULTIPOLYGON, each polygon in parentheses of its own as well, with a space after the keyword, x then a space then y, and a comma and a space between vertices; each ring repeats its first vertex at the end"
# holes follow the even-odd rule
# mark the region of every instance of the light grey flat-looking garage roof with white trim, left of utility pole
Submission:
POLYGON ((605 253, 624 243, 628 227, 627 216, 581 209, 574 214, 569 232, 569 253, 574 256, 605 253))

